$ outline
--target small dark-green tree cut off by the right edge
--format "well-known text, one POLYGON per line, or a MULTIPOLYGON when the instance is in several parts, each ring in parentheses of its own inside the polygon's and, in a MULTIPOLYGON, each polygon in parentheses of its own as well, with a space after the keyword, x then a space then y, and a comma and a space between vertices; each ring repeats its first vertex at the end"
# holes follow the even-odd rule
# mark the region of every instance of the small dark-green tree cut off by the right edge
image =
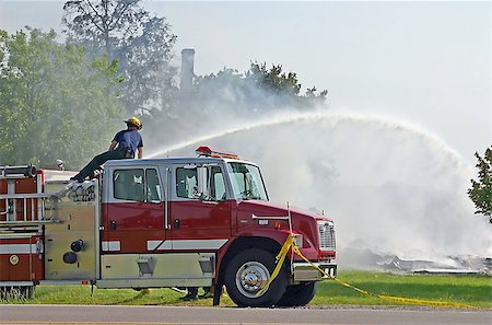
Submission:
MULTIPOLYGON (((491 147, 492 148, 492 147, 491 147)), ((483 214, 492 223, 492 149, 488 148, 482 158, 478 152, 475 153, 478 163, 478 181, 471 179, 471 187, 468 189, 468 196, 473 201, 477 211, 475 213, 483 214)))

